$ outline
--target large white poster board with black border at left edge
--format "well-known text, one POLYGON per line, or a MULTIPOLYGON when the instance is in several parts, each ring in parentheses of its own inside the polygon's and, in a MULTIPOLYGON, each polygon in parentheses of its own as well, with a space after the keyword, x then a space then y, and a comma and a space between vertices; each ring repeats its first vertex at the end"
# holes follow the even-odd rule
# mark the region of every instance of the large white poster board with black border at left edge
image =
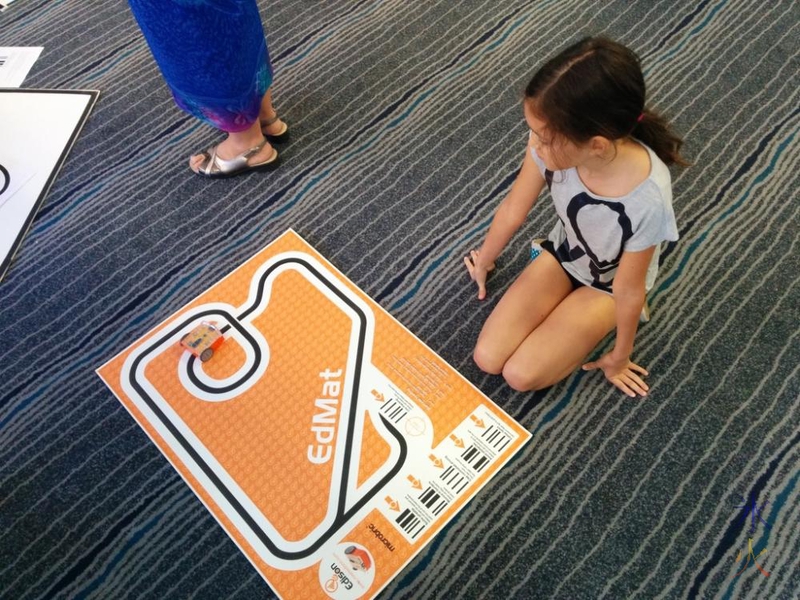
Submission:
POLYGON ((98 95, 0 89, 0 280, 98 95))

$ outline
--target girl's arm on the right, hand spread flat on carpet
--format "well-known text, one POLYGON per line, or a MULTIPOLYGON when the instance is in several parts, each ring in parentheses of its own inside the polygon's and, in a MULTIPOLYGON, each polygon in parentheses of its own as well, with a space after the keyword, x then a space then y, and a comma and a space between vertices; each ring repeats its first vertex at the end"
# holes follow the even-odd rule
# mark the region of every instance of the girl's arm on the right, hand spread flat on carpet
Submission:
POLYGON ((639 252, 623 252, 614 276, 614 303, 616 305, 617 338, 614 349, 595 362, 583 366, 585 370, 603 369, 606 379, 620 390, 635 397, 647 395, 649 388, 640 375, 647 370, 631 362, 633 340, 639 326, 639 315, 645 301, 645 277, 655 246, 639 252))

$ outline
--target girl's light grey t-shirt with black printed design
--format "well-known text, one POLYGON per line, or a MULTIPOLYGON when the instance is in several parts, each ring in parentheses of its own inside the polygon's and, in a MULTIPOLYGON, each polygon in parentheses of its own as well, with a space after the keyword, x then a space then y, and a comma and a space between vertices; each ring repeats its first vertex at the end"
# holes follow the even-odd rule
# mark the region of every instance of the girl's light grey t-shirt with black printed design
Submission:
POLYGON ((605 292, 611 292, 623 251, 655 246, 645 280, 645 289, 652 288, 661 242, 678 239, 669 169, 655 152, 642 146, 650 155, 650 175, 619 198, 590 192, 574 167, 555 173, 545 169, 531 149, 558 213, 558 223, 547 237, 559 262, 581 283, 605 292))

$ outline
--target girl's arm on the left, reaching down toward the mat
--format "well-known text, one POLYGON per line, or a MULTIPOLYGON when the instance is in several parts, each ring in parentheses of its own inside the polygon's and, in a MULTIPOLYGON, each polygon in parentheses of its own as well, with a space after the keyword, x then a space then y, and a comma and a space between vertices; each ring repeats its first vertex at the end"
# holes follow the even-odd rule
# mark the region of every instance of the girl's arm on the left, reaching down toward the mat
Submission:
POLYGON ((495 259, 525 222, 543 187, 544 177, 533 162, 530 149, 526 148, 522 168, 511 191, 500 203, 481 249, 472 250, 470 256, 464 258, 470 277, 478 284, 479 300, 486 297, 486 276, 494 269, 495 259))

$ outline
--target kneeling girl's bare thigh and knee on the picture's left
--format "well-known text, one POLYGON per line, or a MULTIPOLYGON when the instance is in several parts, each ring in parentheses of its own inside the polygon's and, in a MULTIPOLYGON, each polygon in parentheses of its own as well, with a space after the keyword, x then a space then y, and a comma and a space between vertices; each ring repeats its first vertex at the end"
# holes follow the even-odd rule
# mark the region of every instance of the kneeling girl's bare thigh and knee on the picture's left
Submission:
POLYGON ((517 348, 572 291, 558 261, 543 252, 517 277, 489 315, 475 345, 475 363, 499 374, 517 348))

